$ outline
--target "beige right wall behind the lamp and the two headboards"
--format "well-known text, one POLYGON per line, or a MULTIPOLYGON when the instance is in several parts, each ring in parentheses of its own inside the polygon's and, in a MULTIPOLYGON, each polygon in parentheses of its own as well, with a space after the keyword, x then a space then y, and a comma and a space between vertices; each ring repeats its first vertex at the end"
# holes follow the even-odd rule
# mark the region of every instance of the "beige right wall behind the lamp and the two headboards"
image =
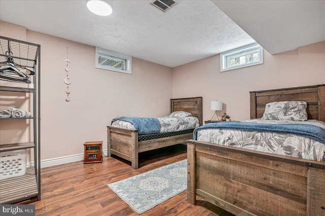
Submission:
POLYGON ((277 55, 264 50, 264 64, 220 72, 215 55, 173 68, 173 97, 203 97, 203 117, 214 111, 210 102, 223 101, 221 116, 245 120, 249 114, 249 92, 325 83, 325 41, 277 55))

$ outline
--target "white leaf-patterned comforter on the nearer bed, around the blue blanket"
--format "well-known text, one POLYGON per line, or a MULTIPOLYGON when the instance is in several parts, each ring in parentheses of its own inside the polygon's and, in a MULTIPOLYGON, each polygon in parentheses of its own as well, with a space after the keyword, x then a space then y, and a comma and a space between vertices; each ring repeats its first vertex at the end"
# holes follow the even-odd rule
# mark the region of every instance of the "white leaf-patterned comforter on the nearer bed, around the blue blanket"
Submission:
MULTIPOLYGON (((247 122, 312 124, 325 129, 325 123, 317 120, 289 121, 252 119, 247 120, 247 122)), ((197 140, 308 160, 325 161, 325 144, 292 134, 205 128, 198 130, 197 140)))

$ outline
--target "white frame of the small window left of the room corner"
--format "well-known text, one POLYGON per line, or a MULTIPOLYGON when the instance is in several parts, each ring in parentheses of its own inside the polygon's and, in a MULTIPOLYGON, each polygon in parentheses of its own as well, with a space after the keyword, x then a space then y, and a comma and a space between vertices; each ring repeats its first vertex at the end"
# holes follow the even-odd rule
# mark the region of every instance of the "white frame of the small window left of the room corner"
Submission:
POLYGON ((109 51, 109 50, 105 50, 105 49, 96 47, 95 62, 96 62, 96 64, 95 64, 96 68, 100 68, 100 69, 104 69, 104 70, 111 70, 111 71, 115 71, 115 72, 132 74, 132 57, 131 56, 127 56, 127 55, 120 54, 120 53, 115 53, 113 51, 109 51), (117 69, 117 68, 113 68, 113 67, 108 67, 108 66, 104 66, 104 65, 99 65, 98 64, 98 58, 100 56, 99 55, 100 53, 111 56, 112 58, 125 60, 125 70, 121 70, 121 69, 117 69))

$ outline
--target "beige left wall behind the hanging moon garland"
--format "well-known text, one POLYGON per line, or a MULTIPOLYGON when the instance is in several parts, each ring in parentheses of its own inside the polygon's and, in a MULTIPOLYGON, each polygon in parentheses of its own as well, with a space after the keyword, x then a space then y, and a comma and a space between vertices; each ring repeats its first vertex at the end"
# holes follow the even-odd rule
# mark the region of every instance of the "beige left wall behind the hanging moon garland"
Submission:
MULTIPOLYGON (((13 31, 16 27, 12 25, 13 31)), ((15 37, 10 32, 7 36, 15 37)), ((104 141, 106 149, 106 126, 114 117, 170 113, 171 68, 133 58, 132 74, 96 69, 94 47, 29 30, 26 41, 41 45, 42 160, 82 154, 86 141, 104 141), (65 101, 67 85, 63 82, 67 47, 70 102, 65 101)), ((3 122, 0 143, 15 142, 18 131, 8 131, 3 122)))

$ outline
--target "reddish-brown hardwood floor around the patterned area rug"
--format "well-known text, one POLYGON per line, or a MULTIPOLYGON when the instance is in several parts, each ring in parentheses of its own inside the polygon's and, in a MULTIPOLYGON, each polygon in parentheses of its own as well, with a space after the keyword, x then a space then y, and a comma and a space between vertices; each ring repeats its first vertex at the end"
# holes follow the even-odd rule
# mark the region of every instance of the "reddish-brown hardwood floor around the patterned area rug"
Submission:
MULTIPOLYGON (((139 169, 116 157, 102 163, 83 161, 42 168, 41 201, 33 202, 36 215, 138 215, 107 184, 186 158, 186 146, 176 145, 139 155, 139 169)), ((141 215, 232 215, 206 201, 186 201, 186 191, 141 215)))

